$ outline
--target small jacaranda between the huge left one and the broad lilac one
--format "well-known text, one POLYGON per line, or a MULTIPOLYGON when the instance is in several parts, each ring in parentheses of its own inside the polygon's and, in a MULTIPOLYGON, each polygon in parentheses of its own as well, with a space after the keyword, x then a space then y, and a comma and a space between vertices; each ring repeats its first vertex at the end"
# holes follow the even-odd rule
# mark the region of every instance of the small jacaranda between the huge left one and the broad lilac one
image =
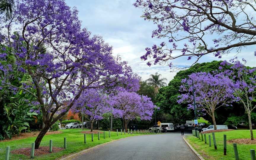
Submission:
POLYGON ((111 111, 106 99, 107 96, 102 90, 87 89, 84 90, 74 105, 77 112, 87 115, 87 120, 91 122, 91 131, 93 123, 103 119, 103 115, 111 111))

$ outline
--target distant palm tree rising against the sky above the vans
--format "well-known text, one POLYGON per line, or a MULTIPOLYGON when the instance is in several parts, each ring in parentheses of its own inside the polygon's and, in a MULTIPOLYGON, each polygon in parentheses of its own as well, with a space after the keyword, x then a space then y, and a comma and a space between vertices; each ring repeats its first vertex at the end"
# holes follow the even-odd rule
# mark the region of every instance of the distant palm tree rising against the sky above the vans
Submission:
POLYGON ((160 79, 162 75, 158 74, 157 72, 155 74, 151 74, 149 79, 146 80, 146 82, 148 82, 149 85, 155 87, 155 92, 158 92, 158 89, 161 87, 164 87, 167 85, 167 83, 165 83, 164 81, 167 81, 166 78, 162 78, 160 79))

